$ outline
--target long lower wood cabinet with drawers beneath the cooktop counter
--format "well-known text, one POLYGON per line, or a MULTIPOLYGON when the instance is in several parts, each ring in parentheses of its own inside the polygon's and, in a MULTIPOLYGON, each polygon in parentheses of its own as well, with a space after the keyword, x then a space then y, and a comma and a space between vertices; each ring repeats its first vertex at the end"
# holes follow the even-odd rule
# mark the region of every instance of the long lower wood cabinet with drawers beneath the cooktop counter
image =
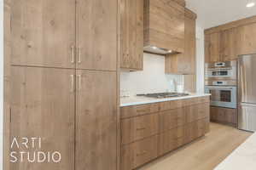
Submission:
POLYGON ((120 170, 143 166, 208 133, 209 111, 208 96, 121 107, 120 170))

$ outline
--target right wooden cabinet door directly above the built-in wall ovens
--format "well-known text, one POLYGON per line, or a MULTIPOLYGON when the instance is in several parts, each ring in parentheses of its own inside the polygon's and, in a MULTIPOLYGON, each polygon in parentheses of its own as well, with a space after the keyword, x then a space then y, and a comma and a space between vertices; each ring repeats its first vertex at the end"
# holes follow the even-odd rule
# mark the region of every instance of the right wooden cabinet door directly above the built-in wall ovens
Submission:
POLYGON ((222 31, 220 34, 220 60, 230 61, 237 59, 237 28, 222 31))

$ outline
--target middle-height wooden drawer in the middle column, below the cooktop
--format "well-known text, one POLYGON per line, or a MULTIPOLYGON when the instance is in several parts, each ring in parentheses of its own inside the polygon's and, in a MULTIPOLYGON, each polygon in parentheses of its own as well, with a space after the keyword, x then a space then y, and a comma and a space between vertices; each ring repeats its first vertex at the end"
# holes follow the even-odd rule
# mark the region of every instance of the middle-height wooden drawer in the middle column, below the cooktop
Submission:
POLYGON ((183 126, 185 122, 183 108, 160 112, 160 132, 183 126))

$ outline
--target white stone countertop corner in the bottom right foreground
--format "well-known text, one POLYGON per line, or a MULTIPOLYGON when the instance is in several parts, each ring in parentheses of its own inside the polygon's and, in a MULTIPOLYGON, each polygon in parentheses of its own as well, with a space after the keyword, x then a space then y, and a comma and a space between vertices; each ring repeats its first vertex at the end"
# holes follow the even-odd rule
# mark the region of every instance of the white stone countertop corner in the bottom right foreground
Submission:
MULTIPOLYGON (((236 139, 234 139, 236 140, 236 139)), ((221 150, 221 148, 220 148, 221 150)), ((256 169, 256 133, 234 150, 214 170, 255 170, 256 169)))

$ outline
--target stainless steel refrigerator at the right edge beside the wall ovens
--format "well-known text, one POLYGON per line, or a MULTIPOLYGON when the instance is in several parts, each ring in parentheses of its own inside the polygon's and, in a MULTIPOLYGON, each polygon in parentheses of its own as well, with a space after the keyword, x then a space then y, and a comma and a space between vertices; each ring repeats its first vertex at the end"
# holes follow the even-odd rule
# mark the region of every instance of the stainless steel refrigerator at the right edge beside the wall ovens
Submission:
POLYGON ((238 59, 238 128, 256 131, 256 54, 238 59))

